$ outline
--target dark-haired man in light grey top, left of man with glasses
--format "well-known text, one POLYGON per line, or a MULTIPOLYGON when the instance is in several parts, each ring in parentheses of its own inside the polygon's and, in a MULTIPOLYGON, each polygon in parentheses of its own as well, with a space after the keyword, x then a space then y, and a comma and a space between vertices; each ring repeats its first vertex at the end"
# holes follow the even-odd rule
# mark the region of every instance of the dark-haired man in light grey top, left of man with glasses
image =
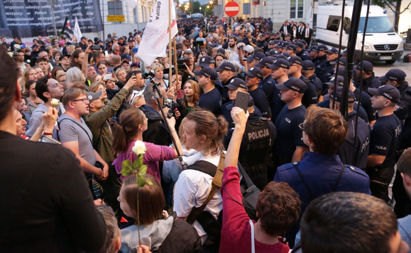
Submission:
MULTIPOLYGON (((52 99, 60 100, 63 97, 64 89, 63 86, 59 84, 56 79, 50 78, 46 75, 36 82, 36 93, 37 97, 44 101, 43 104, 39 104, 37 108, 33 111, 32 117, 29 123, 29 130, 27 130, 26 135, 32 137, 36 132, 36 129, 41 125, 43 114, 52 107, 52 99)), ((58 110, 58 115, 61 116, 65 110, 61 103, 54 106, 58 110)))

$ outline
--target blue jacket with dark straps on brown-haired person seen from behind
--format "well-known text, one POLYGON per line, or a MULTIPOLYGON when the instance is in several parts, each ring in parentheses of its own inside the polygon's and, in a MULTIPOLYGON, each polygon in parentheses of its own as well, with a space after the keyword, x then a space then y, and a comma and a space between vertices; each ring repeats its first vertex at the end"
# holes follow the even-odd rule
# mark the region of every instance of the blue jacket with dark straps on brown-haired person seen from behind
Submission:
MULTIPOLYGON (((296 165, 307 186, 292 163, 279 166, 274 181, 286 182, 298 193, 301 200, 301 215, 313 199, 329 192, 354 191, 371 194, 367 174, 352 165, 344 165, 338 155, 305 152, 303 159, 296 165)), ((294 246, 295 235, 300 229, 299 223, 296 222, 285 234, 290 247, 294 246)))

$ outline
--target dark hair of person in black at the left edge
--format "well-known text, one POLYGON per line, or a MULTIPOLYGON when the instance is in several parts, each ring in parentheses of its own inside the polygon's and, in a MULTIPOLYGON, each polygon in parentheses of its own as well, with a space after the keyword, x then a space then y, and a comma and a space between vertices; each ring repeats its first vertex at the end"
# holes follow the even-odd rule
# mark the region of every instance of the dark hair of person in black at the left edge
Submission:
MULTIPOLYGON (((17 78, 20 68, 9 56, 7 51, 0 47, 0 122, 9 114, 17 95, 17 78)), ((20 93, 20 91, 18 91, 20 93)))

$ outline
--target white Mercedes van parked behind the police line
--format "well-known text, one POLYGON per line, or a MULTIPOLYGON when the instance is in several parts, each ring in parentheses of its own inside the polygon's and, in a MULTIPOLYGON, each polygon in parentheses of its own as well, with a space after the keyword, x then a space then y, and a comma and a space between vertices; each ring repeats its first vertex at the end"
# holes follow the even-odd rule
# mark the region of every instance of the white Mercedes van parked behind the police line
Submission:
MULTIPOLYGON (((342 48, 347 47, 348 35, 351 26, 351 16, 353 6, 346 6, 344 11, 344 21, 341 23, 342 5, 320 5, 317 14, 317 42, 333 47, 339 46, 340 25, 343 25, 342 48)), ((311 10, 309 13, 312 13, 311 10)), ((355 55, 361 50, 362 33, 366 21, 367 6, 361 8, 361 16, 358 26, 357 41, 355 43, 355 55)), ((312 27, 312 21, 307 17, 307 23, 312 27)), ((393 25, 384 10, 379 6, 370 6, 366 38, 364 43, 364 60, 385 61, 393 64, 399 59, 404 50, 404 42, 395 32, 393 25)))

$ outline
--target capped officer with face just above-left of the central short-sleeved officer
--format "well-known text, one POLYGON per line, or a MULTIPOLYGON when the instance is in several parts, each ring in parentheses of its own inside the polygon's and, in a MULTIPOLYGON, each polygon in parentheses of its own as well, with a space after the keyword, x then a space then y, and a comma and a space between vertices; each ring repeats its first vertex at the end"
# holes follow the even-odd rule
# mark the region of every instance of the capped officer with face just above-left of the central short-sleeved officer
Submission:
MULTIPOLYGON (((267 66, 270 68, 271 78, 273 78, 276 83, 283 83, 288 79, 289 63, 285 59, 277 59, 273 64, 267 66)), ((270 102, 270 101, 269 101, 270 102)), ((273 101, 271 103, 271 120, 276 121, 277 116, 284 107, 285 102, 281 100, 281 94, 279 89, 275 89, 273 101)))

